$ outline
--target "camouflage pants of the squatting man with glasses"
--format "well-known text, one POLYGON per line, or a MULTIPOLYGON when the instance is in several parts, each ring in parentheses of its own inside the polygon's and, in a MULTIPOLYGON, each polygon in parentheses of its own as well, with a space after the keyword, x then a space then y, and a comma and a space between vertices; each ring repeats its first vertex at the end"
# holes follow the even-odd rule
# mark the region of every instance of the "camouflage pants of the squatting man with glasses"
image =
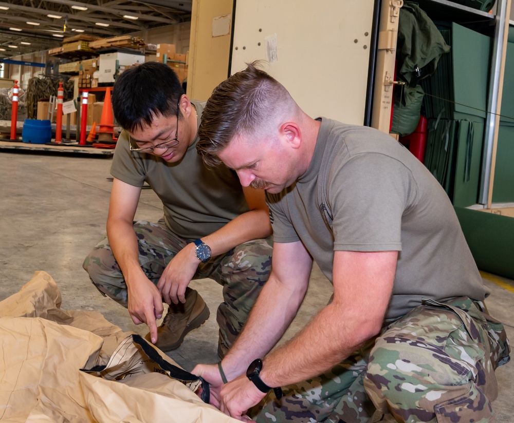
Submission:
MULTIPOLYGON (((157 284, 164 268, 191 241, 173 234, 161 219, 157 223, 134 222, 139 246, 139 263, 157 284)), ((223 298, 217 310, 220 342, 230 348, 241 332, 250 309, 271 271, 271 237, 237 245, 224 255, 198 265, 193 279, 211 278, 223 285, 223 298)), ((102 238, 82 264, 98 290, 124 307, 128 306, 127 286, 107 237, 102 238)))

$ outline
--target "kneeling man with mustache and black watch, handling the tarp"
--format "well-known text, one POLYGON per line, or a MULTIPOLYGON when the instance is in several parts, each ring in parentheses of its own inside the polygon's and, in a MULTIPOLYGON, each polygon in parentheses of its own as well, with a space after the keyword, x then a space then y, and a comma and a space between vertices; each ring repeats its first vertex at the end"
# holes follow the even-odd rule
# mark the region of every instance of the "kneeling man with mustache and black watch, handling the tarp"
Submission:
POLYGON ((273 227, 272 272, 242 333, 218 366, 193 370, 213 405, 260 422, 492 418, 507 337, 423 164, 388 134, 310 118, 255 64, 213 91, 199 137, 207 164, 266 190, 273 227), (333 298, 274 348, 313 260, 333 298))

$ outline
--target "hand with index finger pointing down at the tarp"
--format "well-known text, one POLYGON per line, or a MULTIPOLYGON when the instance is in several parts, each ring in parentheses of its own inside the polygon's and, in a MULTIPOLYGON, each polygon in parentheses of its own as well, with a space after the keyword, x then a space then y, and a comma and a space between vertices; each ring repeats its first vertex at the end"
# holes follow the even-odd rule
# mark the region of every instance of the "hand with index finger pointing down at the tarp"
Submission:
POLYGON ((127 283, 128 314, 135 324, 146 323, 150 330, 150 339, 157 342, 156 319, 162 317, 164 306, 162 296, 152 281, 144 275, 127 283))

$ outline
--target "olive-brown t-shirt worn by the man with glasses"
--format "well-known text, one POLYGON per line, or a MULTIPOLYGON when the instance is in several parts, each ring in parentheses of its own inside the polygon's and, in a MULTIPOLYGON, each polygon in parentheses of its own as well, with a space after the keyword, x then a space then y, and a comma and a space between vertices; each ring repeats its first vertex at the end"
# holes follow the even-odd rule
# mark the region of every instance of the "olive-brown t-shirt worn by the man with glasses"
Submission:
MULTIPOLYGON (((192 103, 199 126, 205 102, 192 103)), ((188 240, 209 235, 248 211, 235 172, 226 166, 205 166, 197 142, 198 136, 180 161, 168 163, 150 153, 131 152, 122 131, 111 166, 111 175, 120 181, 138 187, 148 183, 162 201, 167 226, 188 240)))

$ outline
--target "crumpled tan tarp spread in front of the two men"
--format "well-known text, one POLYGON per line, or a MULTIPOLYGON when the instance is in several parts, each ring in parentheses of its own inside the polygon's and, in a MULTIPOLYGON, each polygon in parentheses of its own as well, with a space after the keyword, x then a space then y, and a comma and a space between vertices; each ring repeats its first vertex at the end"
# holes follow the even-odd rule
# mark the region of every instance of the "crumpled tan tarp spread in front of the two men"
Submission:
POLYGON ((0 302, 3 423, 237 421, 160 373, 112 381, 80 371, 105 366, 131 333, 98 312, 60 306, 57 284, 45 272, 0 302))

